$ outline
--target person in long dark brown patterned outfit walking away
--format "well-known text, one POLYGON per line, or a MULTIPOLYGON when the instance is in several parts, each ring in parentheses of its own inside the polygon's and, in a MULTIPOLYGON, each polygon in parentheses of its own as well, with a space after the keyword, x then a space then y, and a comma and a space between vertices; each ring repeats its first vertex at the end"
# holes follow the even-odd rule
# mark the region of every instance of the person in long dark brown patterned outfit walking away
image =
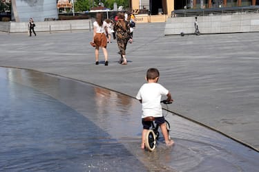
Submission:
POLYGON ((119 59, 119 63, 122 65, 127 65, 126 59, 126 46, 128 41, 131 43, 131 30, 128 21, 125 21, 124 13, 118 12, 118 21, 115 23, 113 30, 117 35, 117 45, 119 47, 119 54, 121 58, 119 59))

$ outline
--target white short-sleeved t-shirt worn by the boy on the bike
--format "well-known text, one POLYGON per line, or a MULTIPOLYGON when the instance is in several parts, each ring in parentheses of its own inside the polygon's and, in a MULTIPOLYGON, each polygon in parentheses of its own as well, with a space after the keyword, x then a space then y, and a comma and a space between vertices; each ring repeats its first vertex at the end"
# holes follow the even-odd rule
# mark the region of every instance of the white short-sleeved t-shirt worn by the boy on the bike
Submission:
POLYGON ((145 83, 137 93, 137 100, 142 100, 142 118, 147 116, 162 117, 161 97, 169 90, 159 83, 145 83))

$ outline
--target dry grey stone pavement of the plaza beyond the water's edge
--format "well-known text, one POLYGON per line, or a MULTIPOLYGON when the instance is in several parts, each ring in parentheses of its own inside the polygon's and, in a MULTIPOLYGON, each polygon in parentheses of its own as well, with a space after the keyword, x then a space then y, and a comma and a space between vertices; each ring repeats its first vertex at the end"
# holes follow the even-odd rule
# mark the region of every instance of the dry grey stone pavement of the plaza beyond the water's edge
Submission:
MULTIPOLYGON (((0 66, 22 67, 101 85, 135 97, 149 67, 171 91, 171 111, 259 149, 259 33, 164 36, 165 23, 138 24, 117 63, 117 44, 108 44, 109 65, 95 65, 93 32, 0 32, 0 66)), ((37 30, 36 30, 37 32, 37 30)))

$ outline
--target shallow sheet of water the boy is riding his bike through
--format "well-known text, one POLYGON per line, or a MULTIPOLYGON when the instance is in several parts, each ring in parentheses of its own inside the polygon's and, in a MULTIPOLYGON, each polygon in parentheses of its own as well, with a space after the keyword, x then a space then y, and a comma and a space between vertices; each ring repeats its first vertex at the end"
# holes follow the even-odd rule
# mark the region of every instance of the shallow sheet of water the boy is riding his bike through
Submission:
POLYGON ((0 67, 0 171, 256 171, 259 155, 169 113, 174 147, 142 151, 141 106, 79 80, 0 67))

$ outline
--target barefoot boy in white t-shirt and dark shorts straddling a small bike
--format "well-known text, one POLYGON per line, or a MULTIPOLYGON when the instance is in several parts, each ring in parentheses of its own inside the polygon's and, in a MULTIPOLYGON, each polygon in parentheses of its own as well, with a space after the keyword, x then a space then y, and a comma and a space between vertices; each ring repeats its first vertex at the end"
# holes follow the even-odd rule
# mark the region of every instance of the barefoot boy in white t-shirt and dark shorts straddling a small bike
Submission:
POLYGON ((141 148, 145 148, 145 136, 148 129, 151 127, 151 121, 144 121, 147 116, 153 116, 155 118, 155 123, 160 125, 162 134, 164 136, 164 141, 167 146, 173 145, 173 140, 169 140, 169 135, 166 129, 166 122, 164 121, 164 116, 162 114, 162 106, 160 104, 162 95, 166 95, 166 101, 172 102, 171 94, 169 90, 164 88, 158 82, 159 71, 155 68, 150 68, 146 72, 146 81, 142 87, 140 87, 137 93, 137 100, 142 103, 142 144, 141 148))

